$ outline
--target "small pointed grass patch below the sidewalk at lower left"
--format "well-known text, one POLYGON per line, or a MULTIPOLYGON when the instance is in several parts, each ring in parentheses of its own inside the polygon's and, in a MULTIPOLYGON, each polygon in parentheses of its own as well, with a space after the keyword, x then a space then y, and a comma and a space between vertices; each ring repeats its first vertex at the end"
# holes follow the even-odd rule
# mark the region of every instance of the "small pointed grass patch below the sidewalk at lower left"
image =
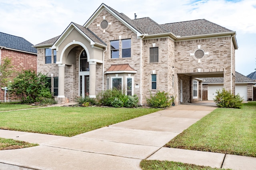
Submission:
POLYGON ((4 139, 0 138, 0 150, 7 149, 20 149, 20 148, 28 148, 38 146, 38 144, 28 143, 24 141, 17 141, 14 139, 4 139))

